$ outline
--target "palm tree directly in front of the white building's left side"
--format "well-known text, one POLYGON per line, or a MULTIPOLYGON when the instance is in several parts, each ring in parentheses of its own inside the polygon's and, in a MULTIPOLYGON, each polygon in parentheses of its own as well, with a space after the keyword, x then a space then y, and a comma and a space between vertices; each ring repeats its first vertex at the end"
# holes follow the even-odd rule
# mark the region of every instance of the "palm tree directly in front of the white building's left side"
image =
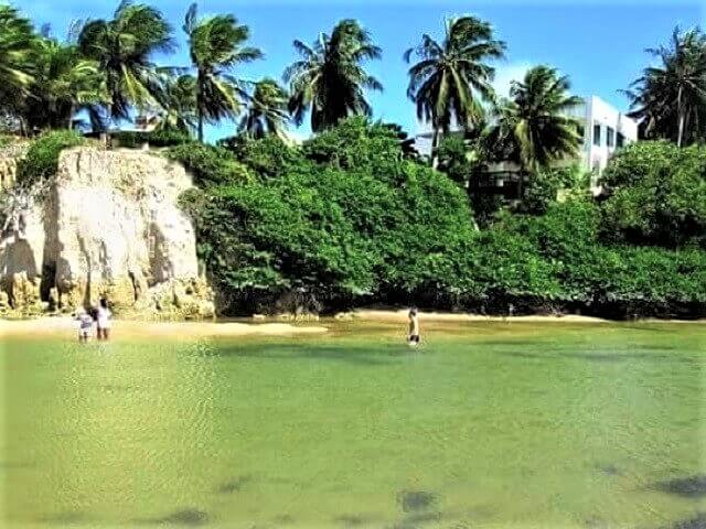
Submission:
POLYGON ((579 153, 580 123, 567 114, 582 100, 569 95, 569 88, 567 76, 548 66, 535 66, 522 82, 512 83, 510 99, 498 107, 490 142, 504 148, 505 155, 520 164, 521 197, 525 174, 579 153))

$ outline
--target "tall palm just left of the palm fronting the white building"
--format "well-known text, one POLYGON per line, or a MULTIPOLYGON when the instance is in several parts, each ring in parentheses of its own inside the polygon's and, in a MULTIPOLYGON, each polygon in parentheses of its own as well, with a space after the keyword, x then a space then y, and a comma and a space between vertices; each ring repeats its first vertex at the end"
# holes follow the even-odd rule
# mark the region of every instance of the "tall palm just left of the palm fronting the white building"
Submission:
POLYGON ((441 132, 448 133, 452 121, 472 128, 483 119, 481 99, 494 99, 490 83, 495 71, 486 61, 503 57, 504 50, 488 22, 461 17, 447 20, 443 42, 424 34, 421 43, 405 53, 407 63, 413 54, 419 58, 409 68, 407 95, 417 106, 417 118, 431 122, 435 168, 441 132))

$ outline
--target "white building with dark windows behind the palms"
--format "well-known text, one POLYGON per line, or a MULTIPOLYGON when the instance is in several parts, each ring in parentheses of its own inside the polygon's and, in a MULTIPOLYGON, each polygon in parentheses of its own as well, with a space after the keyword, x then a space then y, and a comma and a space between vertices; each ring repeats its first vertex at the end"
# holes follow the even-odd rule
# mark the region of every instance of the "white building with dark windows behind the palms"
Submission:
MULTIPOLYGON (((584 138, 581 163, 587 171, 593 173, 595 180, 606 169, 608 160, 617 149, 638 140, 638 122, 597 96, 584 98, 581 105, 567 114, 580 122, 579 133, 584 138)), ((421 154, 430 155, 431 132, 417 134, 415 145, 421 154)), ((512 165, 494 164, 491 172, 512 172, 512 165)))

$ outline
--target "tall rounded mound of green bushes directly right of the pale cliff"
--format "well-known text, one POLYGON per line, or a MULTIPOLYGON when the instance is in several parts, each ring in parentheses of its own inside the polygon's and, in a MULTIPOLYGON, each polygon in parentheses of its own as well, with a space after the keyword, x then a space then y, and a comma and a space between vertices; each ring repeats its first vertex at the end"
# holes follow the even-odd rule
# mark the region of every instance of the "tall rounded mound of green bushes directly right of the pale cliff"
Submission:
MULTIPOLYGON (((301 152, 292 149, 277 177, 258 170, 257 180, 182 197, 221 291, 239 292, 240 300, 297 291, 335 303, 414 290, 439 256, 470 237, 471 216, 458 186, 414 162, 398 160, 391 169, 378 150, 387 131, 355 121, 340 130, 345 145, 333 130, 301 152), (336 143, 334 153, 330 145, 336 143), (361 155, 353 161, 356 149, 361 155)), ((263 154, 252 145, 236 152, 249 160, 263 154)))

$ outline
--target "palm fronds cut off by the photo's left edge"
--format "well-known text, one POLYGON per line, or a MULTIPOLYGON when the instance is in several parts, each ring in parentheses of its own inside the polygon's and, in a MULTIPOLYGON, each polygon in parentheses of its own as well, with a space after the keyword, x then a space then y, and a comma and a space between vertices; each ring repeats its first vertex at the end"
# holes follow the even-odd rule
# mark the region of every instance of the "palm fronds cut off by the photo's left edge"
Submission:
POLYGON ((0 111, 15 117, 32 82, 31 51, 36 36, 18 10, 0 4, 0 111))

